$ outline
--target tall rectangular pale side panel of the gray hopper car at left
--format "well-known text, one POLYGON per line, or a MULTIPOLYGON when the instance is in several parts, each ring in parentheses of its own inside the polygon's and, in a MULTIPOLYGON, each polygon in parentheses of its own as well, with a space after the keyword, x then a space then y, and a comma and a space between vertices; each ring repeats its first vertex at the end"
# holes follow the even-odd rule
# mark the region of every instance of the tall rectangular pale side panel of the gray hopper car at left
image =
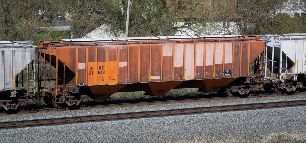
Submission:
POLYGON ((4 90, 13 89, 13 50, 4 51, 4 90))

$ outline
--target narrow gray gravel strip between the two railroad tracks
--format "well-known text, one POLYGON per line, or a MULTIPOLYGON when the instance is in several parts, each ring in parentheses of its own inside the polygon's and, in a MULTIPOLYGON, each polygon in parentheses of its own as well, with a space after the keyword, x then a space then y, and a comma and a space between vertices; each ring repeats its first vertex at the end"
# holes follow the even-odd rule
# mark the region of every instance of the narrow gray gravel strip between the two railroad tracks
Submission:
POLYGON ((145 106, 110 107, 110 108, 98 108, 98 109, 87 109, 87 110, 52 111, 52 112, 39 112, 31 114, 0 115, 0 122, 75 117, 75 116, 86 116, 86 115, 129 113, 129 112, 140 112, 140 111, 156 111, 156 110, 182 109, 182 108, 195 108, 195 107, 211 107, 211 106, 224 106, 224 105, 237 105, 237 104, 250 104, 250 103, 267 103, 267 102, 280 102, 280 101, 293 101, 293 100, 306 100, 306 95, 240 98, 240 99, 218 100, 218 101, 170 103, 170 104, 156 104, 156 105, 145 105, 145 106))

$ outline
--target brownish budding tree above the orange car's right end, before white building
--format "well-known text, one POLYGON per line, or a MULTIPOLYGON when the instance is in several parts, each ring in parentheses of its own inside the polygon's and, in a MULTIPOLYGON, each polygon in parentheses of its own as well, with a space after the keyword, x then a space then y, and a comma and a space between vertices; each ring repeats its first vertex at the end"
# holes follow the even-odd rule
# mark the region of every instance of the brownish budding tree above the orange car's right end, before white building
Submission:
MULTIPOLYGON (((208 13, 210 21, 233 22, 239 34, 265 34, 281 12, 282 0, 216 0, 208 13)), ((228 34, 232 34, 227 29, 228 34)))

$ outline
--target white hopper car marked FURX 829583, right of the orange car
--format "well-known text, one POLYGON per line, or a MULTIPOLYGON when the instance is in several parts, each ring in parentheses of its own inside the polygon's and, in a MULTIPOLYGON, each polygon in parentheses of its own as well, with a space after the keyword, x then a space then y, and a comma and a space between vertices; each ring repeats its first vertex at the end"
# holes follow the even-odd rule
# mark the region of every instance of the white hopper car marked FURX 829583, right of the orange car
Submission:
POLYGON ((263 35, 266 42, 265 88, 300 91, 306 75, 306 33, 263 35))

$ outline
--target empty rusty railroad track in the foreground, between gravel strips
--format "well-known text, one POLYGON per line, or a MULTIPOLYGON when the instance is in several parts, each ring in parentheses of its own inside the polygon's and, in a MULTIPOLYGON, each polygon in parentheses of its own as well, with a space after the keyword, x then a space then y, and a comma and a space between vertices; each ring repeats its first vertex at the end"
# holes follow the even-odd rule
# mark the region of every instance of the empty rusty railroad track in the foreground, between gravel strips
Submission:
POLYGON ((86 122, 103 122, 103 121, 113 121, 113 120, 166 117, 166 116, 177 116, 177 115, 192 115, 192 114, 202 114, 202 113, 244 111, 244 110, 296 107, 296 106, 306 106, 306 100, 0 122, 0 129, 65 125, 65 124, 86 123, 86 122))

